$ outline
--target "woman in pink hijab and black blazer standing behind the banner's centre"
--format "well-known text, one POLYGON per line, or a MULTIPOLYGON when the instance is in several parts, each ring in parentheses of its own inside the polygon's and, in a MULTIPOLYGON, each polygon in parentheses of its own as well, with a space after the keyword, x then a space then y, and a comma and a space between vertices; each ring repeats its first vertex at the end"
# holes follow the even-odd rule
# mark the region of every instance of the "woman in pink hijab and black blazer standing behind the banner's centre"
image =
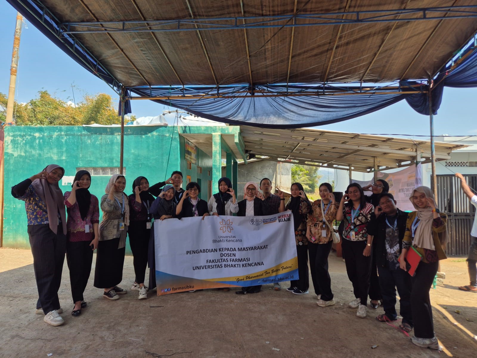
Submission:
MULTIPOLYGON (((267 215, 269 212, 269 206, 265 201, 265 197, 259 192, 259 187, 253 181, 249 181, 243 188, 245 199, 239 201, 239 213, 237 216, 262 216, 267 215)), ((240 294, 256 294, 260 292, 262 285, 245 286, 242 290, 236 291, 237 295, 240 294)))

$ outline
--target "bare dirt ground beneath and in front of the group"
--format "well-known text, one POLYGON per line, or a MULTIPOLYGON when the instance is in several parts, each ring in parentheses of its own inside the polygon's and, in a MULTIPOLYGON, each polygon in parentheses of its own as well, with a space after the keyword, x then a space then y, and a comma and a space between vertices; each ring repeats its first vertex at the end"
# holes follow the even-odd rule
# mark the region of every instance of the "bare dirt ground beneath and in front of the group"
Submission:
MULTIPOLYGON (((475 357, 477 295, 457 289, 468 284, 465 260, 447 259, 441 271, 445 284, 431 290, 436 337, 445 347, 437 352, 415 347, 401 330, 377 322, 382 308, 368 307, 366 319, 356 317, 347 307, 354 298, 351 283, 334 253, 330 274, 337 304, 326 308, 316 305, 312 287, 298 296, 271 285, 255 295, 232 289, 158 297, 150 291, 147 300, 138 300, 129 291, 109 301, 93 287, 93 260, 84 295, 88 306, 79 317, 70 314, 65 260, 59 291, 65 324, 52 327, 35 315, 31 252, 0 249, 0 357, 475 357)), ((130 289, 132 257, 124 261, 123 277, 121 286, 130 289)))

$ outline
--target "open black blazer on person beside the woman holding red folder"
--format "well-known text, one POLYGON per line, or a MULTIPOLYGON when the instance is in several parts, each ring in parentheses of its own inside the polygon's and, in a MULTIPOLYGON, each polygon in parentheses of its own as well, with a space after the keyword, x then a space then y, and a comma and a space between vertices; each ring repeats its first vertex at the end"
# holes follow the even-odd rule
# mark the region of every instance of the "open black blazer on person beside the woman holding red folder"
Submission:
MULTIPOLYGON (((398 209, 396 220, 396 228, 399 231, 399 252, 401 252, 406 231, 407 212, 398 209)), ((386 227, 386 214, 382 213, 377 219, 374 213, 371 214, 371 221, 368 223, 366 231, 369 235, 373 235, 373 254, 376 255, 376 264, 382 267, 386 263, 386 227)))

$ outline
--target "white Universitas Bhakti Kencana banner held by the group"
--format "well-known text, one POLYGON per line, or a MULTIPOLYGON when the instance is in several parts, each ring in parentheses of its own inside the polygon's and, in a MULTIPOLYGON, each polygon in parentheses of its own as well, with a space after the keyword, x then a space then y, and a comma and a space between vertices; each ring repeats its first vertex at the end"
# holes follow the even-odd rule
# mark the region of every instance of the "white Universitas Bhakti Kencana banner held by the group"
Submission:
POLYGON ((298 279, 293 215, 154 221, 157 295, 298 279))

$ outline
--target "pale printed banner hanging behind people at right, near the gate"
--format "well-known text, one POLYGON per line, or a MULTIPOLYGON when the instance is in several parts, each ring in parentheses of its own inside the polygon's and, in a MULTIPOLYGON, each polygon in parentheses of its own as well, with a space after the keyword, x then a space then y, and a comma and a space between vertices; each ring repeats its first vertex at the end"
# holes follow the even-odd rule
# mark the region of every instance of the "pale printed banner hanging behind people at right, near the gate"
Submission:
MULTIPOLYGON (((409 200, 411 194, 416 187, 422 185, 422 164, 417 166, 410 166, 394 173, 378 172, 378 179, 384 179, 389 184, 389 192, 393 194, 397 201, 396 206, 404 211, 414 211, 414 206, 409 200)), ((362 181, 353 180, 362 187, 372 184, 374 180, 362 181)), ((365 191, 365 195, 370 195, 371 192, 365 191)))

